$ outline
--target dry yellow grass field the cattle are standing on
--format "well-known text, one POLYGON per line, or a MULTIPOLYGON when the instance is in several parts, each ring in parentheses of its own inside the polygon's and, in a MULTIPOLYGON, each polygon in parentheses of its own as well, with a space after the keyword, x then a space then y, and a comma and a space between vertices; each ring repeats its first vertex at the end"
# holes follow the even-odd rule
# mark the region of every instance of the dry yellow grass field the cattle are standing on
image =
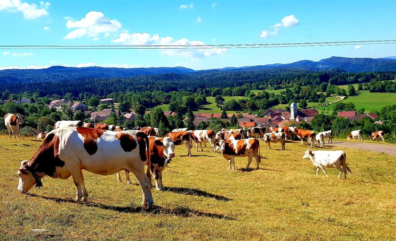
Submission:
MULTIPOLYGON (((155 207, 141 211, 139 186, 115 175, 83 171, 89 201, 75 203, 75 186, 44 177, 30 195, 16 187, 17 169, 39 141, 0 136, 0 240, 394 240, 396 158, 343 148, 348 179, 315 169, 302 156, 307 145, 267 150, 259 170, 237 171, 217 152, 176 147, 164 171, 165 192, 152 190, 155 207), (198 156, 199 155, 199 156, 198 156), (48 230, 35 234, 32 229, 48 230)), ((316 149, 316 148, 315 148, 316 149)), ((326 150, 332 150, 326 147, 326 150)), ((254 163, 252 162, 253 167, 254 163)), ((124 178, 124 177, 123 177, 124 178)), ((136 183, 135 178, 132 181, 136 183)))

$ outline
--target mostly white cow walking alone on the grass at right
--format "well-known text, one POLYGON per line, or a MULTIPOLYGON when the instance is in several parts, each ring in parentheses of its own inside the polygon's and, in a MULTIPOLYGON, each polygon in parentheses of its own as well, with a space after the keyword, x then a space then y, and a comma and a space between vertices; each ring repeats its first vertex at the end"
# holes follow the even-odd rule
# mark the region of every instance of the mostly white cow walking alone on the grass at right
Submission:
POLYGON ((312 161, 312 164, 316 167, 316 176, 318 176, 319 169, 322 169, 323 173, 327 176, 325 167, 337 168, 340 171, 338 178, 340 178, 341 173, 344 172, 346 179, 347 170, 352 173, 346 165, 346 155, 343 151, 312 151, 308 148, 303 159, 310 159, 312 161))

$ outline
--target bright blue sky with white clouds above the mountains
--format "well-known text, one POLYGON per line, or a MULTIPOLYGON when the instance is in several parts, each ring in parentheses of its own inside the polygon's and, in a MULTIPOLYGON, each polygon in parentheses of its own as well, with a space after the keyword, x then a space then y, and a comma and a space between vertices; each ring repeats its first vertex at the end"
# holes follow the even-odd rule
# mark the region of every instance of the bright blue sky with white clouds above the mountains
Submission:
MULTIPOLYGON (((250 44, 396 39, 396 1, 0 0, 1 45, 250 44), (263 32, 266 31, 266 32, 263 32)), ((5 66, 193 69, 386 57, 396 44, 205 50, 4 50, 5 66)))

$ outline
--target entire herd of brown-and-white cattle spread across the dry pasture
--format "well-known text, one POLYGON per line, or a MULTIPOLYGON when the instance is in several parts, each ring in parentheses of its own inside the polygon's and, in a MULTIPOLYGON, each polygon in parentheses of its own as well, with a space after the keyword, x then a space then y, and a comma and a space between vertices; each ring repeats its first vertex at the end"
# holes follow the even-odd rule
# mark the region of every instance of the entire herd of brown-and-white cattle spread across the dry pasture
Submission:
MULTIPOLYGON (((7 126, 9 137, 11 132, 19 138, 19 125, 23 124, 20 114, 6 114, 4 122, 7 126)), ((212 130, 187 130, 187 128, 174 129, 167 133, 163 139, 159 138, 158 128, 134 127, 125 131, 122 126, 107 124, 84 123, 82 121, 57 121, 53 131, 41 133, 37 139, 43 139, 39 150, 28 161, 21 162, 17 174, 19 176, 18 190, 28 192, 34 184, 42 186, 41 178, 48 175, 53 178, 67 179, 72 176, 76 185, 76 201, 87 199, 88 192, 84 184, 82 169, 99 175, 117 174, 119 182, 122 181, 120 171, 125 171, 126 181, 130 183, 129 172, 132 172, 143 192, 143 205, 153 204, 151 195, 151 178, 153 177, 157 190, 164 190, 162 173, 175 157, 175 146, 185 145, 188 156, 192 156, 193 142, 198 152, 198 144, 203 151, 202 143, 210 144, 213 152, 220 150, 222 156, 228 161, 228 169, 235 170, 235 157, 247 157, 249 168, 253 157, 259 169, 261 162, 259 140, 263 140, 270 149, 270 143, 280 142, 285 150, 285 140, 294 140, 298 137, 310 144, 311 147, 324 146, 324 139, 333 142, 332 131, 314 133, 314 131, 299 129, 297 127, 251 127, 246 129, 221 129, 218 133, 212 130), (112 150, 109 152, 109 150, 112 150), (109 161, 111 160, 111 161, 109 161), (148 166, 145 172, 145 165, 148 166)), ((362 131, 352 131, 348 140, 357 137, 362 140, 362 131)), ((370 139, 381 138, 384 132, 372 133, 370 139)), ((310 159, 317 167, 316 175, 321 169, 327 176, 326 167, 335 167, 339 170, 338 177, 350 169, 346 166, 346 155, 343 151, 312 151, 307 149, 303 159, 310 159)))

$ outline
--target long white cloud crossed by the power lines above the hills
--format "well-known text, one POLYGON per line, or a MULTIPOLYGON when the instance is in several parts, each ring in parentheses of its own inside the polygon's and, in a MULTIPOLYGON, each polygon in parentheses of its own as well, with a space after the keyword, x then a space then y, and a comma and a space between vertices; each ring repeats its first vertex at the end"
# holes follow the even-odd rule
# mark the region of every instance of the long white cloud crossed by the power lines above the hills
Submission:
MULTIPOLYGON (((192 46, 192 45, 204 45, 205 43, 199 40, 190 41, 187 38, 175 40, 170 36, 160 37, 158 34, 150 35, 148 33, 120 33, 119 38, 112 40, 113 43, 122 43, 124 45, 172 45, 172 46, 192 46)), ((162 49, 161 54, 169 56, 181 56, 187 57, 192 61, 199 61, 203 57, 209 57, 211 55, 219 55, 226 51, 223 48, 206 48, 206 49, 186 49, 183 47, 175 49, 162 49)))

